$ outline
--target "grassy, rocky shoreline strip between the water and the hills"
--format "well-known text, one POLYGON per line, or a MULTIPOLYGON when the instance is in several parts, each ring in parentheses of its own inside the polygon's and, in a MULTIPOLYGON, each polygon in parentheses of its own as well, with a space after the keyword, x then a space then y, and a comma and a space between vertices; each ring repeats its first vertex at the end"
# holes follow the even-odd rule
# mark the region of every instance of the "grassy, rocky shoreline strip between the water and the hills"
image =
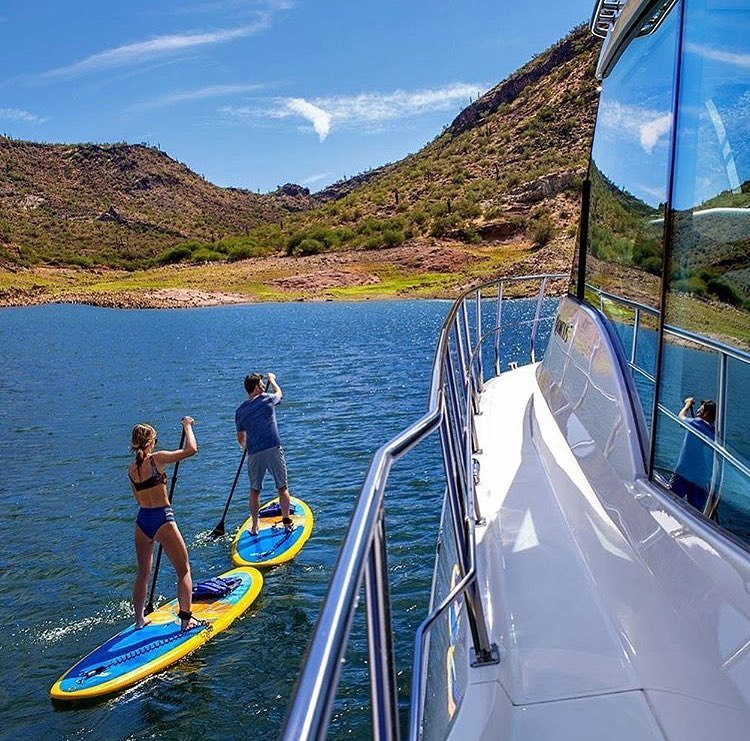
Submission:
POLYGON ((0 308, 51 303, 118 309, 188 309, 294 301, 453 299, 508 275, 567 272, 569 244, 534 250, 524 241, 487 245, 415 240, 381 250, 281 254, 236 262, 144 270, 0 264, 0 308))

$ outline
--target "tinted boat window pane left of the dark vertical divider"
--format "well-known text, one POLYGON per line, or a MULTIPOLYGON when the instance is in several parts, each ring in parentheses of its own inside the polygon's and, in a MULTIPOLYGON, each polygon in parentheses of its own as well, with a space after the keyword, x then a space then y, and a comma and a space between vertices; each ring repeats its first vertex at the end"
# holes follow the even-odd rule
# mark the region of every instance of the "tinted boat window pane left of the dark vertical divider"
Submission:
POLYGON ((589 171, 586 297, 612 321, 638 369, 635 383, 649 425, 679 10, 673 8, 656 32, 635 39, 604 80, 589 171))

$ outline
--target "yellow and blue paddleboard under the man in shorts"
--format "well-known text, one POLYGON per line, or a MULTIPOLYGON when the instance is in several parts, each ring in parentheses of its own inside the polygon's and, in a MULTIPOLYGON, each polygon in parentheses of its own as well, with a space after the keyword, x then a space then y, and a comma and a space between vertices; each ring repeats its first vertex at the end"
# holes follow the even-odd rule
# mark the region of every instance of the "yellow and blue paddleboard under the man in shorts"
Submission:
POLYGON ((238 566, 276 566, 293 559, 308 541, 313 529, 312 510, 297 497, 291 497, 292 530, 284 528, 278 497, 260 508, 258 534, 250 535, 248 517, 234 537, 232 561, 238 566))

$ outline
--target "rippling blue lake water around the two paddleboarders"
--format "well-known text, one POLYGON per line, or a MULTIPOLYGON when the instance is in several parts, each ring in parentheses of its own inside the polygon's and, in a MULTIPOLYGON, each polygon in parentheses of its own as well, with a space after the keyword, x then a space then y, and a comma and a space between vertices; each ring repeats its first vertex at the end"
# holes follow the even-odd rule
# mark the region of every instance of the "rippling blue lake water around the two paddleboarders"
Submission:
MULTIPOLYGON (((275 738, 372 453, 425 410, 448 306, 0 311, 0 737, 275 738), (188 659, 112 699, 53 707, 47 693, 58 676, 131 620, 134 423, 153 424, 169 448, 181 417, 195 417, 199 452, 180 466, 175 513, 194 577, 230 567, 229 534, 206 536, 239 463, 234 410, 254 370, 274 371, 284 390, 279 426, 292 492, 316 514, 311 540, 267 573, 244 619, 188 659)), ((440 468, 434 438, 394 467, 387 493, 404 706, 429 596, 440 468)), ((228 533, 247 515, 246 496, 243 477, 228 533)), ((157 592, 174 596, 168 564, 157 592)), ((333 738, 369 736, 362 624, 360 614, 333 738)))

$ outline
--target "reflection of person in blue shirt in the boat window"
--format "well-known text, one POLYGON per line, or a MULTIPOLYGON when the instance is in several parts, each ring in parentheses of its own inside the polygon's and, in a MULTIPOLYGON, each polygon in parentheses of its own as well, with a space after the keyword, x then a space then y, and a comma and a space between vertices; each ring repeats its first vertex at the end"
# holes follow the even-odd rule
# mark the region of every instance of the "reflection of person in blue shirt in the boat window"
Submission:
MULTIPOLYGON (((713 440, 716 435, 714 422, 716 420, 716 403, 712 400, 702 401, 697 416, 693 417, 692 396, 685 399, 680 409, 679 418, 696 431, 713 440), (690 415, 690 416, 688 416, 690 415)), ((682 441, 680 457, 674 474, 669 482, 669 488, 678 497, 687 499, 696 509, 703 511, 708 499, 708 489, 711 485, 713 470, 713 451, 692 432, 685 433, 682 441)))

